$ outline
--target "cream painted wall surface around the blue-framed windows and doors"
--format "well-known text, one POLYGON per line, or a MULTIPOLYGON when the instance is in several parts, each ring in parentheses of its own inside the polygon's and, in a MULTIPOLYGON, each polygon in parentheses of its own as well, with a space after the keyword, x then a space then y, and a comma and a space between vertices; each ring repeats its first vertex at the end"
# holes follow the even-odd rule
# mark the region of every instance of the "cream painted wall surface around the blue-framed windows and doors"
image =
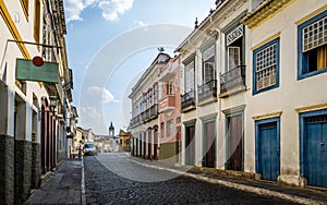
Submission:
MULTIPOLYGON (((299 156, 299 113, 296 108, 314 106, 327 101, 326 73, 298 81, 298 25, 296 21, 310 15, 319 8, 326 7, 326 0, 296 0, 280 13, 265 21, 251 31, 246 41, 247 48, 259 45, 270 36, 280 33, 279 87, 252 96, 246 93, 245 120, 245 171, 254 171, 255 167, 255 122, 252 117, 281 111, 280 117, 280 173, 281 176, 300 174, 299 156)), ((247 86, 252 88, 252 53, 246 56, 247 86)))

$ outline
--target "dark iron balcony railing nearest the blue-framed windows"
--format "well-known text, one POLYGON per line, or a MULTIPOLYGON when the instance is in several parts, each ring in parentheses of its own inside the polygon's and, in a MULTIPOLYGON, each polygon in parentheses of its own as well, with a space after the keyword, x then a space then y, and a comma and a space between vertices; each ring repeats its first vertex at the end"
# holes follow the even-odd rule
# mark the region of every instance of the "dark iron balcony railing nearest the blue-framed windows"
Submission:
POLYGON ((245 85, 245 65, 220 74, 220 94, 242 85, 245 85))

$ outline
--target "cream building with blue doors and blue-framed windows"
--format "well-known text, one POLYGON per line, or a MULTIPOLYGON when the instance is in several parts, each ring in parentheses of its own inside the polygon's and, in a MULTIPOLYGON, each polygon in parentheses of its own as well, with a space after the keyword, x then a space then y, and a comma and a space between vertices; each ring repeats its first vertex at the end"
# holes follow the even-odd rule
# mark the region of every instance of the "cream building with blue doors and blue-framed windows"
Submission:
POLYGON ((245 171, 327 186, 327 1, 266 0, 251 29, 245 171))

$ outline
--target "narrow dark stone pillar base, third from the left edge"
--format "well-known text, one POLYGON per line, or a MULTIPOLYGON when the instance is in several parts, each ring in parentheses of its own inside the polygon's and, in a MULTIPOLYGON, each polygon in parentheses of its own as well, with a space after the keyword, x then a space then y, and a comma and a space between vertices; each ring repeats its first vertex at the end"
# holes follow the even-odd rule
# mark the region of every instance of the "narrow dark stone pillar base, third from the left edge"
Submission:
POLYGON ((36 189, 40 186, 40 144, 32 143, 32 180, 31 188, 36 189))

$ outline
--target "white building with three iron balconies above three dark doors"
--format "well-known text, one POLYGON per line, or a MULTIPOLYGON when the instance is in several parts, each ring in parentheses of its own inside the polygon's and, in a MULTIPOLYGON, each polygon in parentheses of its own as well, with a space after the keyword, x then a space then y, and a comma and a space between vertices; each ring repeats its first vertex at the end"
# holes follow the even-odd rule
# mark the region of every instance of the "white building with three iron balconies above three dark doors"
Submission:
MULTIPOLYGON (((175 49, 182 56, 182 164, 244 170, 249 1, 217 8, 175 49)), ((250 80, 250 79, 247 79, 250 80)))

